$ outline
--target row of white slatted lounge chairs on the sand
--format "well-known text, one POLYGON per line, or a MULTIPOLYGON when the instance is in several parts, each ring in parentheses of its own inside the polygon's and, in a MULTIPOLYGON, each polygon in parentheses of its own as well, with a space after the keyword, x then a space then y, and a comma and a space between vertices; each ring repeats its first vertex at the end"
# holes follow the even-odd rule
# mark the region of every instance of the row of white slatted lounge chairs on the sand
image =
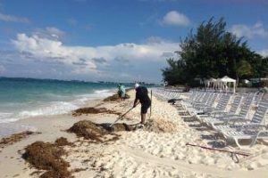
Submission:
POLYGON ((188 99, 176 91, 155 89, 154 93, 163 101, 176 101, 179 112, 188 112, 223 135, 227 143, 234 141, 239 148, 252 147, 257 140, 268 139, 268 123, 265 123, 268 101, 264 99, 264 93, 193 91, 188 93, 188 99), (243 140, 250 142, 242 145, 243 140))

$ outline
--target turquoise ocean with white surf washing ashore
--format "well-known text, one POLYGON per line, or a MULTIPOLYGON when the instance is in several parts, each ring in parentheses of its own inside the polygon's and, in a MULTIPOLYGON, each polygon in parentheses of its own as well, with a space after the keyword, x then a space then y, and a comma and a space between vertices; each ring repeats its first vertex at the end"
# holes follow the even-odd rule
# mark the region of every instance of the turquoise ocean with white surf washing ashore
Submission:
POLYGON ((21 125, 13 124, 14 121, 68 113, 90 100, 111 95, 116 87, 92 82, 0 77, 0 136, 19 130, 21 125))

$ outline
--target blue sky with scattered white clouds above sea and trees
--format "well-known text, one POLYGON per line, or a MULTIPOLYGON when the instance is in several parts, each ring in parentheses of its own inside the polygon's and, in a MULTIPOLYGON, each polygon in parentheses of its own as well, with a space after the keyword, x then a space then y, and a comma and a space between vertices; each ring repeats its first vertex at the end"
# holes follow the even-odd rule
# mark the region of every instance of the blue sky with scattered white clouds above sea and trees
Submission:
POLYGON ((159 83, 205 20, 268 55, 267 0, 0 0, 0 76, 159 83))

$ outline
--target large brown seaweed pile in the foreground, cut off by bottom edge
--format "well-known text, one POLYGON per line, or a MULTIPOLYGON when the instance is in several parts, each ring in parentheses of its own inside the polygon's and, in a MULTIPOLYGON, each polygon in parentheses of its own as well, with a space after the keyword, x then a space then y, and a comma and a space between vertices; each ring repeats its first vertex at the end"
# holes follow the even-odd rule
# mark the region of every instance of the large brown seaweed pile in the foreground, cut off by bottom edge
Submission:
POLYGON ((57 139, 55 143, 34 142, 25 148, 22 158, 30 165, 46 170, 40 175, 40 178, 71 178, 71 172, 68 171, 70 165, 61 158, 66 154, 62 146, 70 144, 63 137, 57 139))

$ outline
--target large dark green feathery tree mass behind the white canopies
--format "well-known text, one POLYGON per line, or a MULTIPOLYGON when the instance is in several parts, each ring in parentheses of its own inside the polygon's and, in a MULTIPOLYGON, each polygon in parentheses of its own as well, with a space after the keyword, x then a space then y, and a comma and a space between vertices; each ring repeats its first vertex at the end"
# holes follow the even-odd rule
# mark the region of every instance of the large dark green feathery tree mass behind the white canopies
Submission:
POLYGON ((163 69, 163 80, 169 85, 185 84, 195 77, 239 77, 267 76, 268 61, 250 50, 247 41, 234 36, 226 29, 222 19, 211 18, 202 22, 194 33, 180 39, 180 60, 168 59, 163 69))

